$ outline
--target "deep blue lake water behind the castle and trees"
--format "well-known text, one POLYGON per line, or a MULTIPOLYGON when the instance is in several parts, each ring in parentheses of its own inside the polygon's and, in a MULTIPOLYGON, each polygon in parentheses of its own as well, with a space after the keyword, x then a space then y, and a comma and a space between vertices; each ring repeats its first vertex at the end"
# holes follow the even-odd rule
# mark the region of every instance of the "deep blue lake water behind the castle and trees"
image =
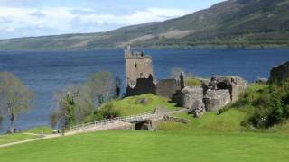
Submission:
MULTIPOLYGON (((148 49, 157 78, 169 77, 173 67, 194 76, 242 76, 249 82, 268 77, 271 67, 289 60, 289 49, 148 49)), ((49 125, 52 96, 67 85, 83 83, 93 72, 110 71, 125 84, 123 50, 0 52, 0 71, 21 77, 35 93, 34 109, 16 120, 22 130, 49 125)), ((6 130, 7 121, 2 130, 6 130)))

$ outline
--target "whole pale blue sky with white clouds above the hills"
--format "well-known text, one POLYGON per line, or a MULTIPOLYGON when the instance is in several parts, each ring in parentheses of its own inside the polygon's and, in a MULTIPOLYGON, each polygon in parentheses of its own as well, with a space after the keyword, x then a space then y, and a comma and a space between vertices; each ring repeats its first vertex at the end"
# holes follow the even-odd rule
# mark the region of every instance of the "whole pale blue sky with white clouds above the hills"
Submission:
POLYGON ((224 0, 0 0, 0 39, 111 31, 191 14, 224 0))

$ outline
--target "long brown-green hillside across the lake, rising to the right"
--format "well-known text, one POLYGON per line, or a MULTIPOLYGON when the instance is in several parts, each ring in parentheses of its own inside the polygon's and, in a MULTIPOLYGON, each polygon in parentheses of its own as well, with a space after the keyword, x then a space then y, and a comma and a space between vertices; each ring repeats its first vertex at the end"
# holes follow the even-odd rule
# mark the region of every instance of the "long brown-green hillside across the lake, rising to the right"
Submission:
POLYGON ((289 47, 289 0, 228 0, 193 14, 115 31, 0 40, 0 50, 289 47))

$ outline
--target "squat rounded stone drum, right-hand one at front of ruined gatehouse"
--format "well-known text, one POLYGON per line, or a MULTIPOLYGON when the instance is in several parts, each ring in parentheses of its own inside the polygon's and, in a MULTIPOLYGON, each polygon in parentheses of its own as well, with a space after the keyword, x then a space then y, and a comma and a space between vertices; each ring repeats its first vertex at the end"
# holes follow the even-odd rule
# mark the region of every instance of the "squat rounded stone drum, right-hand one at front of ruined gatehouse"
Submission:
POLYGON ((226 90, 208 90, 204 96, 204 103, 207 111, 218 111, 231 102, 231 96, 226 90))

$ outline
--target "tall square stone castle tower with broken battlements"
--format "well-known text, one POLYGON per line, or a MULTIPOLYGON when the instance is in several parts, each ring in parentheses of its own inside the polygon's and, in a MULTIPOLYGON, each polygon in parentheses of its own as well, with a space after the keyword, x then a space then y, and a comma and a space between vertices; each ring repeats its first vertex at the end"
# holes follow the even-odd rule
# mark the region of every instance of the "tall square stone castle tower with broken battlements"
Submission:
POLYGON ((126 95, 155 94, 153 59, 144 51, 133 52, 125 49, 126 58, 126 95))

